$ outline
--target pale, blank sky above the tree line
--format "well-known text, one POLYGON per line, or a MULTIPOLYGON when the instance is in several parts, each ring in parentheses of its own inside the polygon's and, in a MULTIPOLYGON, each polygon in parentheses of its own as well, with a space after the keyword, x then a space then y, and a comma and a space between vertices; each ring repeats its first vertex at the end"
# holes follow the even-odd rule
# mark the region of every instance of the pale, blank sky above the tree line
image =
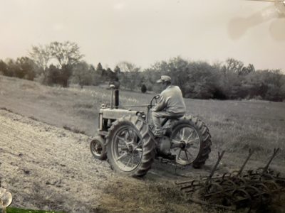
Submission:
POLYGON ((235 58, 285 73, 282 9, 246 0, 0 0, 0 59, 69 40, 95 66, 235 58))

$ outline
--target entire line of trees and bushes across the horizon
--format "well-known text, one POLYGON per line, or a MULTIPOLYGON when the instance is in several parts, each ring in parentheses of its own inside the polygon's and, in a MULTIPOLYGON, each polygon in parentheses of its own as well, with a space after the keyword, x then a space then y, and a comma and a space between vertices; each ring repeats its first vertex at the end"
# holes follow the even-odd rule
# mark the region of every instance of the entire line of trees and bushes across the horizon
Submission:
POLYGON ((120 62, 111 70, 100 63, 94 67, 83 57, 79 46, 69 41, 34 45, 27 56, 0 60, 0 74, 61 87, 70 83, 83 87, 109 82, 141 92, 160 92, 156 80, 160 75, 169 75, 186 98, 285 100, 285 75, 281 70, 255 70, 254 65, 244 65, 234 58, 209 64, 177 57, 155 62, 145 69, 120 62))

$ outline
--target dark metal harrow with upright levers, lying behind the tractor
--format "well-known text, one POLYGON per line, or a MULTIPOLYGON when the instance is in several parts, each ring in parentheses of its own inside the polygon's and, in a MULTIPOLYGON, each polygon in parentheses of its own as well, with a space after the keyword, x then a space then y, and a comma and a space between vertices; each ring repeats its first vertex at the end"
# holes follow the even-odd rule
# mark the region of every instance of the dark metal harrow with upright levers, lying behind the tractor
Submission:
POLYGON ((231 210, 249 208, 250 211, 252 208, 260 207, 263 204, 268 205, 278 200, 281 192, 285 190, 285 178, 281 178, 280 173, 269 169, 271 161, 278 152, 279 148, 274 148, 274 153, 264 168, 244 172, 245 165, 254 153, 249 150, 249 155, 239 170, 223 175, 214 175, 224 155, 224 151, 222 151, 222 153, 218 153, 217 163, 209 176, 176 182, 176 185, 188 195, 187 198, 191 202, 231 210))

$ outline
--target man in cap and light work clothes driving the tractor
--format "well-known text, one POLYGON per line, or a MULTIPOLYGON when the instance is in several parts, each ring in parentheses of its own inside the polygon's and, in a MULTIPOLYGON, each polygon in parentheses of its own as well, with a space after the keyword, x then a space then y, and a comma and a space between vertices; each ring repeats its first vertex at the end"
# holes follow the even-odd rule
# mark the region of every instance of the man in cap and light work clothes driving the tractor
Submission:
POLYGON ((157 104, 152 109, 152 121, 155 125, 155 136, 162 137, 160 118, 175 119, 184 116, 186 105, 180 88, 171 84, 169 76, 162 75, 160 80, 157 80, 157 83, 162 84, 164 90, 161 92, 157 104))

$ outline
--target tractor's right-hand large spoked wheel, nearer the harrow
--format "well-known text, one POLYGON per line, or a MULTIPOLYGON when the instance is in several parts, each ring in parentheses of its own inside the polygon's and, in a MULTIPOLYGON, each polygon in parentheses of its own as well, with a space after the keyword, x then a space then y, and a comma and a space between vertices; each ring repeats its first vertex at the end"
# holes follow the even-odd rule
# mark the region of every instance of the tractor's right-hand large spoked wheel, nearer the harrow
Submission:
POLYGON ((171 149, 178 164, 200 168, 209 158, 211 135, 204 122, 195 116, 185 116, 172 124, 170 139, 172 144, 180 144, 171 149))

